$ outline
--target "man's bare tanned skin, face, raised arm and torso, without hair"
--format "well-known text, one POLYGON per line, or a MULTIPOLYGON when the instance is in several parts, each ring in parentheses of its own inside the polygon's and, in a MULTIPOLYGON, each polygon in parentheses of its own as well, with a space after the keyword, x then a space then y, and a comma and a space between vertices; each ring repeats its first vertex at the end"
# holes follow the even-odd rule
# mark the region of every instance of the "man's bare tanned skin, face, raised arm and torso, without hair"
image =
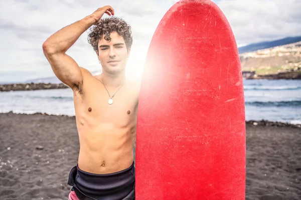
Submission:
POLYGON ((114 15, 107 5, 51 35, 43 51, 55 75, 73 90, 80 151, 78 166, 90 173, 112 173, 133 162, 140 83, 125 79, 130 53, 122 36, 111 32, 111 40, 98 41, 97 58, 102 74, 92 75, 66 54, 79 36, 98 23, 103 14, 114 15), (124 81, 125 80, 125 81, 124 81), (103 81, 103 83, 101 82, 103 81), (104 87, 106 86, 106 88, 104 87), (113 104, 108 104, 113 97, 113 104))

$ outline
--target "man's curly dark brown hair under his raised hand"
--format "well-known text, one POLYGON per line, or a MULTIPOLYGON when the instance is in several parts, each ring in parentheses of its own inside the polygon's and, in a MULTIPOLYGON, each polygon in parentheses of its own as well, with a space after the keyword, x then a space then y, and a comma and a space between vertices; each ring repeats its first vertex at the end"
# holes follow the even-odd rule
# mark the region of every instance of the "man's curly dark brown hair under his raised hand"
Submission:
POLYGON ((133 39, 131 36, 131 27, 123 19, 111 16, 103 19, 101 22, 91 26, 88 34, 88 42, 93 49, 98 52, 98 40, 104 35, 104 39, 111 40, 110 33, 116 31, 124 39, 126 48, 129 49, 133 39))

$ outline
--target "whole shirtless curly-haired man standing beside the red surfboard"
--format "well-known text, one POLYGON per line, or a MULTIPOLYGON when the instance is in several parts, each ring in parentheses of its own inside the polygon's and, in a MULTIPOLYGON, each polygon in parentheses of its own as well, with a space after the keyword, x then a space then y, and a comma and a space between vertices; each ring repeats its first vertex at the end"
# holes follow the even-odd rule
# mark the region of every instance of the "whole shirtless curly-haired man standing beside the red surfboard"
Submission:
POLYGON ((56 76, 73 90, 80 151, 69 174, 69 199, 134 199, 133 144, 140 85, 125 79, 130 26, 111 6, 98 8, 51 35, 43 51, 56 76), (92 26, 93 25, 93 26, 92 26), (88 41, 102 73, 93 76, 66 51, 91 26, 88 41))

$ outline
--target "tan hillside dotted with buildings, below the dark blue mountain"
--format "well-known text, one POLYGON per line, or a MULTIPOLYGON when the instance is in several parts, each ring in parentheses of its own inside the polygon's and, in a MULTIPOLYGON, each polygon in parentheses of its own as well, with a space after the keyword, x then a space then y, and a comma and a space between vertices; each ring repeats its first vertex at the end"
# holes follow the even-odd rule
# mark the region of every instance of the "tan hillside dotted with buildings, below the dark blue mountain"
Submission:
POLYGON ((301 79, 301 41, 241 53, 240 61, 245 78, 301 79))

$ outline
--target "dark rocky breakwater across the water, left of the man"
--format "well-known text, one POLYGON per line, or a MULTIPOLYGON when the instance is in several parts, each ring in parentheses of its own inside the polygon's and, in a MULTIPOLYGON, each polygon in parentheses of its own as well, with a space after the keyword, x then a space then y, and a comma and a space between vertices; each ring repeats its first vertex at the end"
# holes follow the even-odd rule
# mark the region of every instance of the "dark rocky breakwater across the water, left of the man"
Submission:
POLYGON ((2 84, 0 91, 22 91, 22 90, 38 90, 38 89, 63 89, 69 88, 64 83, 17 83, 17 84, 2 84))

